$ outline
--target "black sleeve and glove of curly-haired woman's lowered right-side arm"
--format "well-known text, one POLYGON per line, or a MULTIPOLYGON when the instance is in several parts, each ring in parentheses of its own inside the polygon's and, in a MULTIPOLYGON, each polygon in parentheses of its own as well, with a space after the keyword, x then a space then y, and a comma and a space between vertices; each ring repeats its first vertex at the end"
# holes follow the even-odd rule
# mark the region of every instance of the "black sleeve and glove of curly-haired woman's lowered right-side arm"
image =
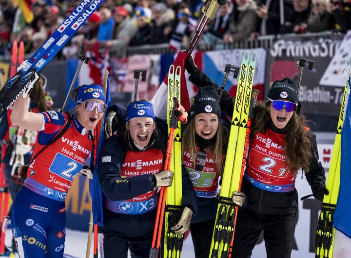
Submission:
POLYGON ((324 168, 319 161, 315 135, 311 131, 309 131, 308 134, 312 145, 312 159, 310 161, 310 171, 308 171, 308 173, 305 173, 305 175, 307 182, 310 184, 313 191, 314 189, 325 187, 326 178, 324 168))

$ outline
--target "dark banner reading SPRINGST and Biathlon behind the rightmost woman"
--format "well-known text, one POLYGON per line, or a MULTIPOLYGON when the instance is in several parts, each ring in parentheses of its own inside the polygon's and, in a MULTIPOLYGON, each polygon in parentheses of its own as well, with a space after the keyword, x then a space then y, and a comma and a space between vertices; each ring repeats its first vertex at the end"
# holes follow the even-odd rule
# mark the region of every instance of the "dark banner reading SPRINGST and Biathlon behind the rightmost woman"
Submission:
MULTIPOLYGON (((338 116, 343 88, 332 81, 320 85, 320 80, 331 59, 338 53, 343 36, 280 37, 267 56, 266 94, 275 80, 292 78, 297 84, 299 68, 296 61, 306 58, 314 61, 313 69, 303 71, 299 100, 305 114, 338 116)), ((341 76, 341 75, 340 75, 341 76)))

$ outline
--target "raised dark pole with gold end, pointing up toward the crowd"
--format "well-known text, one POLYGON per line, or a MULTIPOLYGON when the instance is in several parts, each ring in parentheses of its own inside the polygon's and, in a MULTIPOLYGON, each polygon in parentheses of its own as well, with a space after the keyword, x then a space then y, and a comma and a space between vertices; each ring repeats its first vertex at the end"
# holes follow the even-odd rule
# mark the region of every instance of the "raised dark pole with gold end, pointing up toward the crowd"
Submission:
POLYGON ((226 3, 226 0, 206 0, 204 6, 201 9, 203 16, 202 16, 199 24, 197 25, 194 36, 190 41, 188 50, 186 51, 186 53, 188 53, 188 55, 191 55, 191 53, 193 53, 195 45, 196 45, 198 39, 201 37, 201 34, 202 34, 208 20, 211 18, 214 18, 215 14, 218 10, 218 7, 220 5, 225 5, 225 3, 226 3))

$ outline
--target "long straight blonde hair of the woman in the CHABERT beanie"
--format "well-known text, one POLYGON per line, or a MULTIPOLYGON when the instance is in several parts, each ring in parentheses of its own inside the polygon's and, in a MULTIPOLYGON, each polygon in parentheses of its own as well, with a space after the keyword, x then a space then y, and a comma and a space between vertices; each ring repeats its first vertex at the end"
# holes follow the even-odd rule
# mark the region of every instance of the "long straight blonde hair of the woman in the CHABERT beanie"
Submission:
MULTIPOLYGON (((196 150, 196 138, 195 138, 195 118, 190 120, 183 131, 182 136, 182 153, 184 150, 189 151, 193 159, 193 167, 195 168, 195 157, 197 155, 196 150)), ((208 147, 213 154, 213 160, 215 164, 215 171, 220 176, 223 175, 223 155, 224 155, 224 142, 228 138, 228 130, 222 125, 218 118, 218 129, 215 134, 215 141, 208 147)))

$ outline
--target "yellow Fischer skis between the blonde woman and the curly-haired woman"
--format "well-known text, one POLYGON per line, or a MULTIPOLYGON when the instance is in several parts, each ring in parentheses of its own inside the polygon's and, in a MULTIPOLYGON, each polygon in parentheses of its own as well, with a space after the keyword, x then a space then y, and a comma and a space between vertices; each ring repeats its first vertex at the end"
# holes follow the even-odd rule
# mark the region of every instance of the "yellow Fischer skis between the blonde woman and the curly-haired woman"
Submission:
POLYGON ((233 244, 237 206, 233 203, 232 194, 233 191, 240 191, 245 166, 255 62, 256 53, 250 55, 250 52, 246 51, 239 73, 210 258, 228 257, 231 250, 229 246, 233 244))

